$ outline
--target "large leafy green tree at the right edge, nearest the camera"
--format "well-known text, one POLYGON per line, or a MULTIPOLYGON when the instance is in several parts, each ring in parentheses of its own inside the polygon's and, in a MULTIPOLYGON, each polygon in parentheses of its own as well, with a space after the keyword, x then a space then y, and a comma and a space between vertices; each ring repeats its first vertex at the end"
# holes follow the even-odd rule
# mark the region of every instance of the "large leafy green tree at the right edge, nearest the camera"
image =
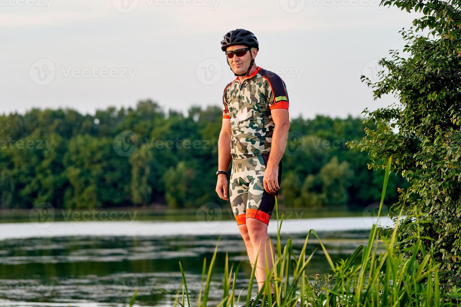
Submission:
MULTIPOLYGON (((408 57, 391 50, 391 59, 379 61, 384 67, 379 81, 362 76, 374 99, 393 93, 399 102, 364 110, 365 123, 376 127, 367 128, 361 142, 349 145, 370 154, 371 169, 384 168, 392 156, 392 171, 409 182, 391 207, 407 215, 397 245, 410 256, 417 237, 423 238, 441 262, 441 282, 449 286, 461 278, 461 2, 384 0, 382 4, 422 12, 422 17, 414 20, 414 27, 400 31, 408 57), (423 29, 429 34, 419 33, 423 29)), ((420 254, 416 257, 421 261, 420 254)))

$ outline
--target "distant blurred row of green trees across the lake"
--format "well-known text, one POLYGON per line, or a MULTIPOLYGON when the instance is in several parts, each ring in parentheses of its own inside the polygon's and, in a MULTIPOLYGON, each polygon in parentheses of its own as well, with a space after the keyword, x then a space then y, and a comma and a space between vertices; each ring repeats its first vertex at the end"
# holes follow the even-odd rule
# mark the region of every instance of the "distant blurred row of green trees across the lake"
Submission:
MULTIPOLYGON (((215 202, 222 110, 193 106, 187 115, 152 100, 94 115, 32 109, 0 116, 0 206, 93 209, 215 202)), ((279 201, 289 208, 379 201, 384 171, 345 143, 365 136, 363 119, 291 120, 279 201)), ((371 127, 373 128, 373 127, 371 127)), ((391 176, 387 203, 406 183, 391 176)))

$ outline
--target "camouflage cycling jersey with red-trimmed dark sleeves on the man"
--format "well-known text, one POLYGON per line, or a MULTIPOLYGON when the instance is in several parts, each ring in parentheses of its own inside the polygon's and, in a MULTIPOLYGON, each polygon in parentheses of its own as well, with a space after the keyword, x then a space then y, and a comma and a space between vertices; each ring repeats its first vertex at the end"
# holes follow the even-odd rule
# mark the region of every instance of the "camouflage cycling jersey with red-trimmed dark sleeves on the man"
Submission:
POLYGON ((271 110, 288 109, 285 82, 258 66, 242 84, 237 77, 225 87, 223 104, 223 118, 231 120, 232 157, 268 153, 275 127, 271 110))

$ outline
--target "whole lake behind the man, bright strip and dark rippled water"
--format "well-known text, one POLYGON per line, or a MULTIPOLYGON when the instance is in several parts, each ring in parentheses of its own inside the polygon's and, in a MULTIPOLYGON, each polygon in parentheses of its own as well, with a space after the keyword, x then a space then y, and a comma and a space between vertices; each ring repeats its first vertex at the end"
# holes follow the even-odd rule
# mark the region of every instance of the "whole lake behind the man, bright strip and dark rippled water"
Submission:
MULTIPOLYGON (((284 220, 282 246, 291 238, 300 250, 309 229, 316 230, 333 261, 366 244, 372 216, 330 215, 284 220)), ((380 225, 392 226, 392 221, 383 217, 380 225)), ((273 242, 276 229, 277 220, 271 220, 273 242)), ((0 306, 128 306, 139 290, 136 306, 171 307, 172 299, 157 287, 173 296, 180 289, 178 261, 193 302, 200 289, 203 258, 210 261, 219 237, 209 306, 216 306, 222 297, 225 254, 231 263, 248 261, 234 220, 72 218, 0 223, 0 306)), ((311 235, 307 254, 315 248, 307 273, 330 272, 318 240, 311 235)), ((251 266, 245 264, 238 274, 241 302, 250 273, 251 266)))

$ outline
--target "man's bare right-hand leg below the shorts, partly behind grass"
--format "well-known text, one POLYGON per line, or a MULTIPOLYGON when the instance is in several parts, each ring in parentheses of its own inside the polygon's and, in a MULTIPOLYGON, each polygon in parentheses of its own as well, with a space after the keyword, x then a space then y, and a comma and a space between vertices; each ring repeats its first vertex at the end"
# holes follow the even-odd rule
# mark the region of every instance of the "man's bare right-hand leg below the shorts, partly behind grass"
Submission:
MULTIPOLYGON (((251 243, 253 244, 253 255, 255 257, 256 254, 258 254, 256 272, 257 276, 260 277, 260 279, 258 279, 258 289, 261 291, 264 286, 264 282, 266 281, 266 259, 264 253, 265 251, 267 253, 267 266, 270 271, 273 266, 272 255, 275 257, 275 249, 271 238, 267 235, 267 225, 264 222, 254 218, 247 218, 246 223, 248 235, 251 239, 251 243)), ((274 293, 272 282, 270 283, 270 287, 271 293, 274 293)))

